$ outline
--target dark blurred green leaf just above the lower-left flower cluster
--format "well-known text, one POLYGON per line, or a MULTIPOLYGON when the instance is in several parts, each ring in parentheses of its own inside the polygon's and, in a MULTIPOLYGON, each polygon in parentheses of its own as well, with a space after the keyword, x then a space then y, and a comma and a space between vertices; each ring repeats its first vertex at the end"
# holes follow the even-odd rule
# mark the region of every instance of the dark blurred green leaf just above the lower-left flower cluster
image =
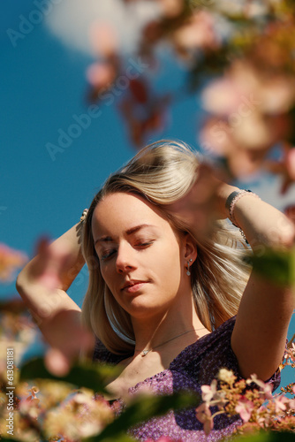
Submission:
POLYGON ((57 377, 47 370, 42 358, 36 358, 23 365, 20 370, 19 380, 49 379, 66 382, 78 387, 86 387, 95 392, 102 392, 105 394, 105 385, 107 385, 114 377, 117 377, 120 372, 121 369, 117 366, 99 365, 87 362, 74 365, 67 375, 57 377))

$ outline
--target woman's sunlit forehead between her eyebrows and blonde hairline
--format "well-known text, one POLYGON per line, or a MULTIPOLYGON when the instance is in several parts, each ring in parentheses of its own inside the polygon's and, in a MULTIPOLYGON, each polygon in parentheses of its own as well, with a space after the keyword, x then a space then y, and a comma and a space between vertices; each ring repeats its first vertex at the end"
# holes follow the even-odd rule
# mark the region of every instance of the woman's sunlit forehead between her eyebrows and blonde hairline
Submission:
POLYGON ((105 232, 128 230, 135 225, 170 227, 163 213, 152 203, 135 194, 106 195, 95 207, 92 230, 94 236, 105 232))

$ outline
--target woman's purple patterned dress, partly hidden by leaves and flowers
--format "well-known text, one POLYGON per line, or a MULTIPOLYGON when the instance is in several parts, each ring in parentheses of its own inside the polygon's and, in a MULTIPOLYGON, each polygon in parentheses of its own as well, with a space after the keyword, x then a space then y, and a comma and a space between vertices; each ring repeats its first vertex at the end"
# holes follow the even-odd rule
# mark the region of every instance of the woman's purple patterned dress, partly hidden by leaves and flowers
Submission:
MULTIPOLYGON (((189 390, 200 392, 201 385, 210 385, 221 368, 232 370, 238 379, 242 377, 238 371, 238 361, 231 349, 231 333, 235 324, 235 316, 223 323, 212 333, 198 339, 194 344, 186 347, 170 363, 167 370, 148 377, 143 382, 132 386, 130 394, 140 392, 140 389, 152 390, 159 394, 171 394, 189 390)), ((125 357, 125 356, 124 356, 125 357)), ((98 362, 118 363, 123 357, 111 354, 102 343, 97 341, 95 347, 94 360, 98 362)), ((280 384, 280 374, 277 370, 268 383, 276 389, 280 384)), ((212 408, 212 412, 214 409, 212 408)), ((140 426, 132 429, 132 437, 139 440, 157 440, 162 436, 171 439, 181 439, 184 442, 206 441, 213 442, 224 437, 229 437, 234 429, 240 424, 239 416, 227 417, 226 415, 216 415, 214 419, 214 429, 206 436, 203 431, 203 424, 196 416, 195 410, 185 410, 183 412, 173 412, 149 420, 140 426)))

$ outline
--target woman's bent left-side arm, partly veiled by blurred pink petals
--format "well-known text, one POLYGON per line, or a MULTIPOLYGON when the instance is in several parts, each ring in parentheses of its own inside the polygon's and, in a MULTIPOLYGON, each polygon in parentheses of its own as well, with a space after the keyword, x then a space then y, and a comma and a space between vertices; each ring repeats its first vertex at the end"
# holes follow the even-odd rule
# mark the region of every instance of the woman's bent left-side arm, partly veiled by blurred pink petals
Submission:
POLYGON ((61 350, 73 336, 70 331, 79 328, 79 306, 65 291, 85 263, 80 249, 81 227, 81 223, 74 225, 51 244, 42 241, 38 255, 19 273, 16 284, 45 339, 61 350))

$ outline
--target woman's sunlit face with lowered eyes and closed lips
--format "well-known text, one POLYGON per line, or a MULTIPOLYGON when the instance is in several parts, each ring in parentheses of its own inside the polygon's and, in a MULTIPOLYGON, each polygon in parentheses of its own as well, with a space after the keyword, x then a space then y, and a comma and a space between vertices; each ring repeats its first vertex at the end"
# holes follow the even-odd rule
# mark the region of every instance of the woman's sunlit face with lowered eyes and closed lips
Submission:
POLYGON ((163 314, 190 290, 185 235, 134 194, 109 194, 95 208, 92 230, 102 278, 131 316, 163 314))

